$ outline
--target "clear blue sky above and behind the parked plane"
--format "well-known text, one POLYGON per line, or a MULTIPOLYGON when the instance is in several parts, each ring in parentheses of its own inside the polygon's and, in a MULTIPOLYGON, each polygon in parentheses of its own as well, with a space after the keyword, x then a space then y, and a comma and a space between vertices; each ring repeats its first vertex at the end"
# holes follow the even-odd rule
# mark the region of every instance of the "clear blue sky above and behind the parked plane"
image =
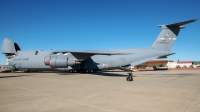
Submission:
MULTIPOLYGON (((200 0, 0 0, 0 46, 8 37, 22 50, 145 48, 157 25, 194 18, 200 0)), ((169 59, 200 61, 199 49, 200 20, 181 30, 169 59)))

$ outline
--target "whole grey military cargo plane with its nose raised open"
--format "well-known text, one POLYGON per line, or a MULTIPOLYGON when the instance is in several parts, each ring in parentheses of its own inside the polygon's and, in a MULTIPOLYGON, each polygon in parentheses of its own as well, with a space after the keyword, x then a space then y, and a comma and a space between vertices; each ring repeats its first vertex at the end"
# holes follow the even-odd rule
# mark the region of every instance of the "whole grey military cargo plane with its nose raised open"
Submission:
MULTIPOLYGON (((146 62, 150 59, 166 58, 174 54, 170 52, 177 39, 182 25, 197 19, 159 25, 161 33, 150 48, 131 48, 116 50, 32 50, 23 51, 19 45, 9 38, 2 43, 2 53, 10 59, 8 69, 14 70, 62 70, 69 72, 94 72, 103 69, 146 62)), ((126 77, 132 81, 132 73, 126 77)))

